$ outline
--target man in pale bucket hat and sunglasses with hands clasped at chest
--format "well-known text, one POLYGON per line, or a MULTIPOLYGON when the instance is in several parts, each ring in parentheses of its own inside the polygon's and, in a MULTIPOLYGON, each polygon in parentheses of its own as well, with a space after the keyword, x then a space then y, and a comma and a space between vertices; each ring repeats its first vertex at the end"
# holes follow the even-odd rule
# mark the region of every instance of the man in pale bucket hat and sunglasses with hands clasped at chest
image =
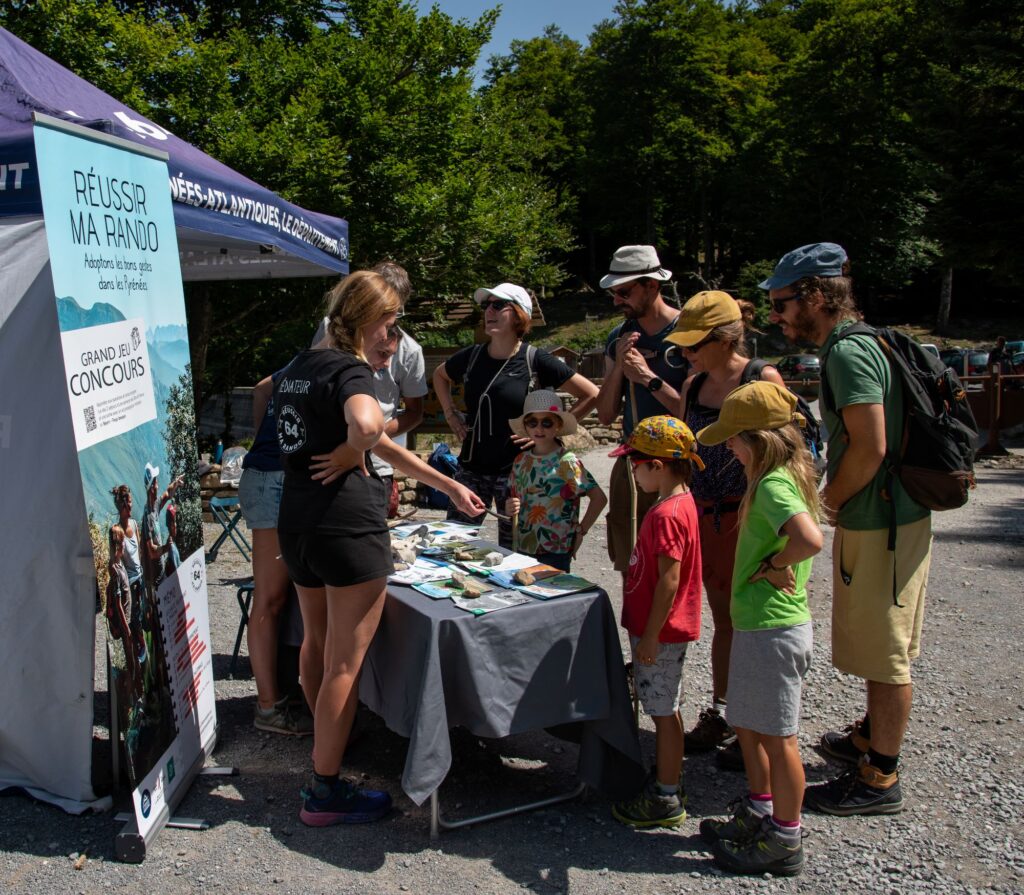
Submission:
MULTIPOLYGON (((640 420, 679 410, 688 365, 679 346, 665 341, 679 316, 662 296, 662 284, 671 279, 653 246, 617 249, 601 278, 601 289, 626 319, 605 345, 597 416, 607 426, 622 414, 624 440, 640 420)), ((608 489, 608 555, 625 578, 636 532, 655 496, 637 491, 624 457, 612 467, 608 489)))

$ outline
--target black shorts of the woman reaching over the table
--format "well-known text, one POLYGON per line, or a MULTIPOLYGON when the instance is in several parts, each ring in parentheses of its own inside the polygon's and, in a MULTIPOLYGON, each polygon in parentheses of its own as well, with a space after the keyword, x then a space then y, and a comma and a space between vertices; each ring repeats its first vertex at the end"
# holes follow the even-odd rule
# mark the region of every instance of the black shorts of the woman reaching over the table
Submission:
POLYGON ((348 536, 279 530, 278 540, 289 578, 302 588, 344 588, 394 571, 387 531, 348 536))

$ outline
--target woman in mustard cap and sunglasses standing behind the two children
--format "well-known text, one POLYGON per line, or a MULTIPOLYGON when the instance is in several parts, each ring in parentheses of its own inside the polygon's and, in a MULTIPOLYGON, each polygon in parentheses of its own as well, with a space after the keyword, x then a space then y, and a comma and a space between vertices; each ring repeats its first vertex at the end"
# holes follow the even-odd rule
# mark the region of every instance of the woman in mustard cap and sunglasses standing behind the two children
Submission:
MULTIPOLYGON (((683 305, 667 341, 680 345, 691 375, 683 384, 677 412, 693 432, 718 420, 725 396, 751 379, 783 385, 774 367, 752 360, 745 333, 754 322, 754 305, 725 292, 698 292, 683 305)), ((700 561, 715 633, 711 645, 712 701, 686 734, 687 752, 707 752, 728 740, 733 731, 725 720, 732 647, 732 567, 736 555, 739 504, 746 492, 743 468, 724 444, 701 444, 705 469, 694 473, 693 499, 700 523, 700 561)), ((735 770, 742 767, 735 745, 721 756, 735 770), (731 759, 731 761, 730 761, 731 759)))

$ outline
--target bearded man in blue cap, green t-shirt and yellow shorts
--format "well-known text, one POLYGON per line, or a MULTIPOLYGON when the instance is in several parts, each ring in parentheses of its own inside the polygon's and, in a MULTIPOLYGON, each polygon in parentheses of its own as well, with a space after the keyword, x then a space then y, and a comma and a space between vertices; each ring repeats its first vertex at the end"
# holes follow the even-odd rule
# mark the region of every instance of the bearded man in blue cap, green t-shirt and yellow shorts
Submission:
POLYGON ((903 434, 902 387, 873 336, 843 336, 861 314, 842 246, 794 249, 761 288, 768 291, 769 319, 785 337, 819 347, 818 406, 828 432, 822 506, 836 525, 833 665, 867 685, 863 719, 821 737, 823 752, 853 767, 808 786, 804 805, 841 816, 895 814, 903 809, 898 765, 932 543, 931 513, 888 474, 888 445, 898 445, 903 434))

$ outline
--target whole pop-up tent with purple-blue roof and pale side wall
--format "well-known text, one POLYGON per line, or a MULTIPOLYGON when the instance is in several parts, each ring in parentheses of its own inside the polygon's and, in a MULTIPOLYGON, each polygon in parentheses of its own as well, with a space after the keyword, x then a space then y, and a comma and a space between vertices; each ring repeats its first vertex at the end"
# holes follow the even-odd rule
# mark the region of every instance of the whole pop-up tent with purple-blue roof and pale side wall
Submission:
POLYGON ((19 786, 81 811, 109 802, 92 786, 95 576, 34 112, 169 155, 185 280, 347 272, 348 229, 283 201, 0 29, 0 790, 19 786))

